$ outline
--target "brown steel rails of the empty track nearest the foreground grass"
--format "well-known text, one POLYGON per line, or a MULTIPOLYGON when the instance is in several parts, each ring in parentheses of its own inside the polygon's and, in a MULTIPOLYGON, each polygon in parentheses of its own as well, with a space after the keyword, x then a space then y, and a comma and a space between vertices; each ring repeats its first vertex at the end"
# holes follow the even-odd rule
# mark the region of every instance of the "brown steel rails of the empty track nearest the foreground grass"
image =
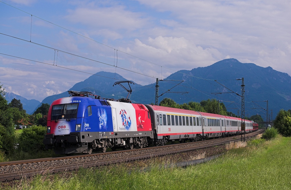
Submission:
MULTIPOLYGON (((257 133, 248 136, 247 138, 252 138, 258 135, 262 131, 257 131, 257 133)), ((179 148, 179 149, 173 149, 168 151, 159 151, 154 153, 145 153, 141 155, 132 155, 132 156, 126 156, 126 157, 120 157, 120 158, 113 158, 109 160, 98 160, 93 162, 85 162, 85 163, 79 163, 79 164, 70 164, 65 166, 58 166, 58 167, 52 167, 52 168, 44 168, 44 169, 35 169, 35 170, 28 170, 28 171, 21 171, 21 172, 14 172, 14 173, 4 173, 0 175, 0 181, 9 181, 9 180, 16 180, 21 179, 23 177, 33 177, 37 174, 44 174, 44 173, 57 173, 61 171, 72 171, 77 170, 80 167, 83 168, 89 168, 89 167, 96 167, 96 166, 102 166, 107 164, 114 164, 114 163, 120 163, 120 162, 127 162, 132 160, 140 160, 145 158, 152 158, 157 156, 164 156, 168 154, 175 154, 175 153, 181 153, 186 151, 191 151, 195 149, 205 149, 211 146, 217 146, 226 144, 228 142, 232 141, 239 141, 240 139, 232 139, 232 140, 226 140, 223 142, 214 142, 207 145, 198 145, 198 146, 191 146, 191 147, 185 147, 185 148, 179 148)))

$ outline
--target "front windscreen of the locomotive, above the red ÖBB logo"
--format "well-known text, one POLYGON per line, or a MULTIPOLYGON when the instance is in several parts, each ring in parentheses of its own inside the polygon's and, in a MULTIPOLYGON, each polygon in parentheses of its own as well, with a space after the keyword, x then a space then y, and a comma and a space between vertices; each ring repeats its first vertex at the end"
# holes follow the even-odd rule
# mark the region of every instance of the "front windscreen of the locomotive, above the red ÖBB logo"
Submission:
POLYGON ((77 118, 79 104, 58 104, 52 106, 51 120, 77 118))

